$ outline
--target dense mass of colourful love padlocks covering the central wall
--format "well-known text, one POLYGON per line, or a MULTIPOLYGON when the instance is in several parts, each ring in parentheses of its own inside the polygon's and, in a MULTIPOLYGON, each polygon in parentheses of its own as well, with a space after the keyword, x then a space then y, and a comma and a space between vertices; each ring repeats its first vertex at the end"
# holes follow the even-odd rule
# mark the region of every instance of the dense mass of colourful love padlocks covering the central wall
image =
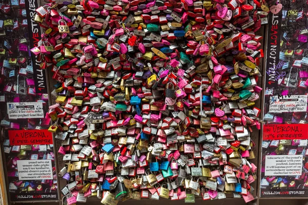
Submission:
POLYGON ((67 203, 254 198, 264 1, 95 0, 36 9, 58 83, 67 203))

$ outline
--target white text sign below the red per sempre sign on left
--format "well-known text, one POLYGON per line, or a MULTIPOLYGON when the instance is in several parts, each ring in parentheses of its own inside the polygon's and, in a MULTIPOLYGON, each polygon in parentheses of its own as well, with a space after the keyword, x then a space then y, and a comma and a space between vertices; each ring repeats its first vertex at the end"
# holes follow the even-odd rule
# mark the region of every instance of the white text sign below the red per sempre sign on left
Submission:
POLYGON ((53 179, 51 160, 17 160, 19 180, 53 179))

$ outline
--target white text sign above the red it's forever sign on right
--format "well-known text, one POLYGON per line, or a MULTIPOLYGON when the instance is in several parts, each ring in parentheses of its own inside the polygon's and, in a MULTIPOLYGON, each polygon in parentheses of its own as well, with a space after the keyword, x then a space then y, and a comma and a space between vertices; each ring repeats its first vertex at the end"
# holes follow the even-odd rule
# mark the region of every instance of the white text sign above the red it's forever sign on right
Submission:
POLYGON ((307 95, 272 96, 269 101, 269 112, 306 112, 307 95))

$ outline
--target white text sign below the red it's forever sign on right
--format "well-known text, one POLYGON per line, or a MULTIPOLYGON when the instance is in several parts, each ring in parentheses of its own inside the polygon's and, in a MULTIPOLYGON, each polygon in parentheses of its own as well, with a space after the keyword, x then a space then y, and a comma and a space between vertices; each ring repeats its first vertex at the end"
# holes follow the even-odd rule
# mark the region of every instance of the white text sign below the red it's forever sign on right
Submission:
POLYGON ((302 173, 303 155, 266 155, 265 176, 296 176, 302 173))

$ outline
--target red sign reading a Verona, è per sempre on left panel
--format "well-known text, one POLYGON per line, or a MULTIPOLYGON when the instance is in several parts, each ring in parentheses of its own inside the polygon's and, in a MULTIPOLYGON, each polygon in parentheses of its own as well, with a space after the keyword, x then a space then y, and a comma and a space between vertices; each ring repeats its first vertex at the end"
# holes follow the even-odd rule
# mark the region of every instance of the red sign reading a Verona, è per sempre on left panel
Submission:
POLYGON ((50 145, 52 133, 48 130, 9 130, 10 145, 50 145))

